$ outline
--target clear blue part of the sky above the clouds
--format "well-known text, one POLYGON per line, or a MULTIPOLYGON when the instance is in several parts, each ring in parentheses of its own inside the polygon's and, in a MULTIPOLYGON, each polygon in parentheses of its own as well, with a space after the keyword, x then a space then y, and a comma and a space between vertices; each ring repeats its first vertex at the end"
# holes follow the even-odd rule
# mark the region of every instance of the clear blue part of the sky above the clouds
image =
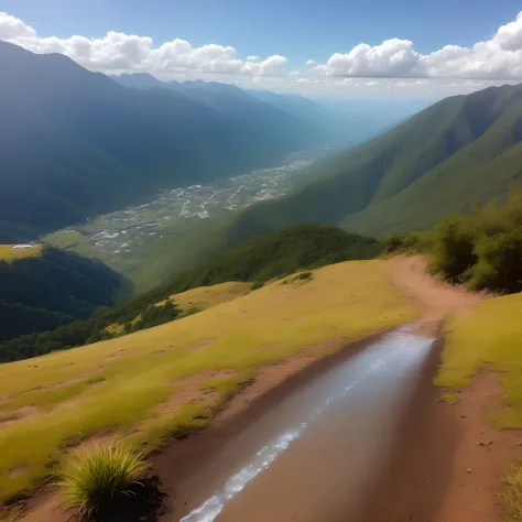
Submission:
POLYGON ((428 53, 470 46, 513 20, 520 1, 502 0, 0 0, 0 10, 41 35, 102 36, 108 31, 232 45, 242 55, 324 61, 360 42, 399 37, 428 53))

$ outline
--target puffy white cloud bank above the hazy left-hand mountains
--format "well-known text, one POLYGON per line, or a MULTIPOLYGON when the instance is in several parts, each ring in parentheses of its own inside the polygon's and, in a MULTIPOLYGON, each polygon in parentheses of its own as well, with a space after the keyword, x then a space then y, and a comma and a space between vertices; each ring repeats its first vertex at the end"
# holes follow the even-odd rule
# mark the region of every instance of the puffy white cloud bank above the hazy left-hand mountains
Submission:
POLYGON ((262 59, 237 57, 233 47, 217 44, 193 47, 185 40, 174 40, 154 47, 152 39, 110 31, 102 39, 70 36, 42 37, 34 29, 7 13, 0 13, 0 40, 35 53, 61 53, 84 67, 101 73, 146 72, 152 74, 217 74, 233 76, 280 76, 287 59, 274 55, 262 59))

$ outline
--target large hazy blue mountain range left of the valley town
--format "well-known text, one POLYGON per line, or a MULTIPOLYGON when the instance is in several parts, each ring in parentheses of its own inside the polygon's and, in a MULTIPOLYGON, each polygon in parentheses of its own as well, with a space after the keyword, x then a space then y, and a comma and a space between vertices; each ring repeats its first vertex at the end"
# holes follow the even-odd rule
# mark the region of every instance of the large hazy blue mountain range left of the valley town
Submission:
POLYGON ((224 101, 218 110, 183 93, 126 88, 64 55, 6 42, 0 67, 3 242, 140 202, 161 187, 270 166, 324 140, 318 129, 252 97, 255 111, 239 119, 244 105, 224 101))

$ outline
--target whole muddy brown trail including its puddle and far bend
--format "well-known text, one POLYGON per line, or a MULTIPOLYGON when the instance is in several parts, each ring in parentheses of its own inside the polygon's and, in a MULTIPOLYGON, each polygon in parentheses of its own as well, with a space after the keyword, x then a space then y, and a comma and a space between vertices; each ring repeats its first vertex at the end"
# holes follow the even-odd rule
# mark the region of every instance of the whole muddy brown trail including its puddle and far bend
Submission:
POLYGON ((432 385, 441 325, 483 298, 390 263, 417 322, 347 347, 155 459, 168 522, 437 521, 461 433, 432 385), (378 500, 378 501, 376 501, 378 500))

